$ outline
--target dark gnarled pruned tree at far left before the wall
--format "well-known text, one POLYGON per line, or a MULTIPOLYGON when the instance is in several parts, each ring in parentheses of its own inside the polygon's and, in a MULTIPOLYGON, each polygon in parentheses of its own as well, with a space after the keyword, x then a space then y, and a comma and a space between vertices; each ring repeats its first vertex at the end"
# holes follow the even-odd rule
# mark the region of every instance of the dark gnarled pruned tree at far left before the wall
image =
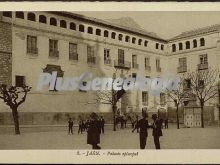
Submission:
POLYGON ((18 119, 18 107, 25 102, 27 93, 31 90, 31 87, 7 87, 6 85, 0 86, 0 99, 2 99, 6 105, 12 110, 12 116, 15 126, 15 134, 20 134, 19 119, 18 119))

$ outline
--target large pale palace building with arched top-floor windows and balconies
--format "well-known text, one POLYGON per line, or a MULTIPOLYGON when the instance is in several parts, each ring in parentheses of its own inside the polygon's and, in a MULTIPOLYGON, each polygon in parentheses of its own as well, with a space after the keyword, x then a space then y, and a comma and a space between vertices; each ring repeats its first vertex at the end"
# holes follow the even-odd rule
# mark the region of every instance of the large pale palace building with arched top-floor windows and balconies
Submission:
MULTIPOLYGON (((220 25, 184 32, 170 40, 140 28, 71 12, 0 12, 0 84, 32 87, 19 107, 21 124, 63 124, 67 117, 93 111, 112 120, 111 105, 95 102, 91 91, 36 91, 39 74, 58 77, 160 77, 196 69, 220 69, 220 25)), ((86 83, 86 82, 85 82, 86 83)), ((128 91, 120 113, 159 110, 172 105, 164 93, 128 91)), ((219 98, 208 104, 207 120, 219 120, 219 98)), ((168 113, 169 114, 169 113, 168 113)), ((175 118, 175 117, 174 117, 175 118)), ((10 110, 0 102, 0 124, 11 124, 10 110)))

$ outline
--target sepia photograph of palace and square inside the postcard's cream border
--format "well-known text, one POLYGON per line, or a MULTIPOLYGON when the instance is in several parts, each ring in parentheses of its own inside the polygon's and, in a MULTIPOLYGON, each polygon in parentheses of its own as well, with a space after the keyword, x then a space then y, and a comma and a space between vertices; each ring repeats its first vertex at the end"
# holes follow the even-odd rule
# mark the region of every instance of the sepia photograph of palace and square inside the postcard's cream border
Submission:
POLYGON ((220 11, 1 11, 0 150, 220 149, 220 11))

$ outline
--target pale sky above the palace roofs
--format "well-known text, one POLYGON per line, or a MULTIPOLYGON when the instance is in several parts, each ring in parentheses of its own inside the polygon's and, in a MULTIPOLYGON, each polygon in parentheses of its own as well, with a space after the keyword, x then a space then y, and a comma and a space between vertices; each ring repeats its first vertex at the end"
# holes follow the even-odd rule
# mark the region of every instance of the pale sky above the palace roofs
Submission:
POLYGON ((74 13, 104 20, 131 17, 143 29, 155 32, 164 39, 170 39, 185 31, 220 24, 219 11, 77 11, 74 13))

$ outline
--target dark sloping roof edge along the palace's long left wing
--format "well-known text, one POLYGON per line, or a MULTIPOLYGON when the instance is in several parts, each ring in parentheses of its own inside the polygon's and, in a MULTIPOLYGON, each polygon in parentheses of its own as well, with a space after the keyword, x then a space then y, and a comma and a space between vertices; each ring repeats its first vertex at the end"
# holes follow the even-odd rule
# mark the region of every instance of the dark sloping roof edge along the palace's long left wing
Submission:
POLYGON ((101 20, 101 19, 97 19, 97 18, 91 18, 91 17, 87 17, 84 15, 75 14, 75 13, 66 12, 66 11, 47 11, 47 12, 52 13, 52 14, 56 14, 56 15, 60 15, 60 16, 64 16, 64 17, 68 17, 68 18, 82 20, 82 21, 89 22, 89 23, 98 24, 101 26, 107 26, 107 27, 114 28, 117 30, 133 33, 136 35, 142 35, 142 36, 145 36, 145 37, 153 39, 153 40, 162 41, 164 43, 168 42, 168 40, 162 39, 160 37, 155 37, 153 35, 150 35, 150 34, 147 34, 147 33, 141 32, 141 31, 138 32, 137 31, 138 29, 131 29, 131 28, 128 28, 125 26, 116 25, 114 23, 110 23, 105 20, 101 20))

